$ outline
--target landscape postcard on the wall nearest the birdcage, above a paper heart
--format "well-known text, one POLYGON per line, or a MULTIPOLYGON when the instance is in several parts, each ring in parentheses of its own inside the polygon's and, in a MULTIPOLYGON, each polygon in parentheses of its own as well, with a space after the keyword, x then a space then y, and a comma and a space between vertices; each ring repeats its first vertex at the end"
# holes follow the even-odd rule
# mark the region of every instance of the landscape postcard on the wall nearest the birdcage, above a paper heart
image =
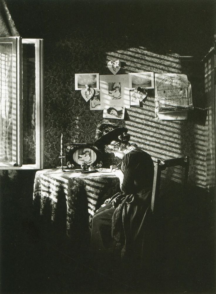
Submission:
POLYGON ((137 87, 153 89, 154 88, 154 73, 130 73, 129 75, 129 88, 135 89, 137 87))

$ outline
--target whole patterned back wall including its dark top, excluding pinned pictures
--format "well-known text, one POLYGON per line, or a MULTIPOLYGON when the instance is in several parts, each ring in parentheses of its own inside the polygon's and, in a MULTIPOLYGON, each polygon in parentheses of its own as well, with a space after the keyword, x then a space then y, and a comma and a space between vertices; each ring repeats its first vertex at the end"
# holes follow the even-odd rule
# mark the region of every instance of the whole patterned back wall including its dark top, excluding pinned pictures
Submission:
MULTIPOLYGON (((125 6, 121 1, 114 6, 112 1, 96 1, 96 6, 78 1, 68 2, 67 7, 61 1, 51 6, 42 2, 28 7, 21 1, 18 14, 9 1, 9 9, 21 36, 44 39, 45 168, 60 165, 61 133, 67 142, 90 143, 102 120, 102 111, 90 111, 90 103, 75 91, 75 73, 111 74, 107 62, 119 59, 122 69, 118 74, 153 71, 188 75, 195 109, 188 113, 187 121, 155 120, 151 91, 143 107, 131 107, 124 121, 116 122, 127 126, 131 141, 148 151, 153 160, 188 155, 190 181, 201 187, 211 185, 212 116, 204 96, 204 66, 200 60, 209 50, 212 6, 207 9, 202 1, 194 11, 193 2, 185 10, 178 1, 175 5, 173 1, 172 9, 170 4, 144 5, 141 1, 125 6), (20 17, 22 13, 26 22, 20 17), (185 62, 182 55, 194 55, 196 61, 185 62)), ((105 165, 113 161, 106 155, 105 165)))

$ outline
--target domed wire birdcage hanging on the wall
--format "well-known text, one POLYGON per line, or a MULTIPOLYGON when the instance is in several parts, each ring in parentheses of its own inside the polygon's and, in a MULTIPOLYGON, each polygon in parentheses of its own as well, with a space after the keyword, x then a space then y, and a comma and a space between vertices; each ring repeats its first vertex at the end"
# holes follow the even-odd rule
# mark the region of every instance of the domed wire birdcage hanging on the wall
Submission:
MULTIPOLYGON (((163 77, 166 74, 162 74, 163 77)), ((193 109, 191 84, 186 75, 171 75, 158 79, 155 89, 155 107, 158 113, 193 109)), ((159 78, 160 74, 158 74, 159 78)))

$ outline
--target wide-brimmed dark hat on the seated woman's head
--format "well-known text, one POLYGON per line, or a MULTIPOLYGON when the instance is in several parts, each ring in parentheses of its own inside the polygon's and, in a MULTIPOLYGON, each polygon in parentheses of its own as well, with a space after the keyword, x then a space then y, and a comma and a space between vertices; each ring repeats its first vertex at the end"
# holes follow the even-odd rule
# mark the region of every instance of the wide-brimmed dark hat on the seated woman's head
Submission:
POLYGON ((100 132, 100 136, 97 136, 97 140, 94 142, 94 147, 100 148, 103 145, 109 144, 111 141, 118 140, 118 137, 127 132, 127 128, 124 126, 118 126, 116 124, 103 123, 97 128, 100 132))

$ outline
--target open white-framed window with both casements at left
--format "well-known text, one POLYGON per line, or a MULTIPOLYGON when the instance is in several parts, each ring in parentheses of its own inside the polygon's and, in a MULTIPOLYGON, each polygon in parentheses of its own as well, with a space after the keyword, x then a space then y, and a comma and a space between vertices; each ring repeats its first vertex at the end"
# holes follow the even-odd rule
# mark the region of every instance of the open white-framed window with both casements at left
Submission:
POLYGON ((43 168, 43 40, 0 38, 0 168, 43 168))

